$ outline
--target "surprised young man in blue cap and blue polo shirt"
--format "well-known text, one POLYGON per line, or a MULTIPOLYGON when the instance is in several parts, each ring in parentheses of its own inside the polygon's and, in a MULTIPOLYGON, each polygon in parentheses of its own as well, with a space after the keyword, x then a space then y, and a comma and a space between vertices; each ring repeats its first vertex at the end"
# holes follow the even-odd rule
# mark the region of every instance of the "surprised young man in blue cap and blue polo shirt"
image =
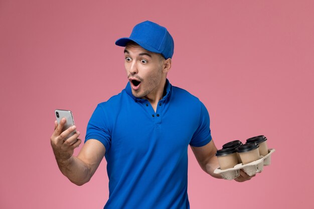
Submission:
MULTIPOLYGON (((167 79, 174 41, 166 28, 145 21, 125 47, 126 88, 98 104, 87 126, 85 144, 76 127, 61 132, 65 119, 51 137, 61 172, 73 183, 90 180, 103 156, 107 160, 109 199, 104 208, 190 208, 187 194, 188 146, 201 168, 212 175, 219 167, 210 131, 209 114, 198 98, 174 87, 167 79)), ((237 181, 251 177, 241 171, 237 181)))

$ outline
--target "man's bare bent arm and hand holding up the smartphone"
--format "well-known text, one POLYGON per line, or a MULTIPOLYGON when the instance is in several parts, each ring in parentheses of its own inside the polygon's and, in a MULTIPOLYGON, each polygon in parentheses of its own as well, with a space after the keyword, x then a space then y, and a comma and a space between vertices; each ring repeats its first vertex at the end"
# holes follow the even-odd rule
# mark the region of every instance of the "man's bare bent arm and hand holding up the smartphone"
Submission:
POLYGON ((64 138, 76 129, 75 126, 70 127, 61 133, 65 121, 65 118, 62 119, 59 125, 55 122, 55 131, 51 136, 51 146, 61 172, 71 182, 83 185, 95 173, 106 149, 98 140, 89 139, 78 156, 73 156, 74 149, 80 145, 81 140, 77 139, 79 136, 77 131, 76 134, 64 141, 64 138))

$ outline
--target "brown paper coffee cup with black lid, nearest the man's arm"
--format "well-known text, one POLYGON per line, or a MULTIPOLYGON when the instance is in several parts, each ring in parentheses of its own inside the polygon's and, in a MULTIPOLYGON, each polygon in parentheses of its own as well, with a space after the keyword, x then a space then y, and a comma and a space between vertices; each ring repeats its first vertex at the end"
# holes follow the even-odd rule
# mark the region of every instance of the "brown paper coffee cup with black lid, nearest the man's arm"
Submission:
POLYGON ((237 150, 234 148, 217 150, 216 156, 221 170, 233 168, 238 164, 237 150))

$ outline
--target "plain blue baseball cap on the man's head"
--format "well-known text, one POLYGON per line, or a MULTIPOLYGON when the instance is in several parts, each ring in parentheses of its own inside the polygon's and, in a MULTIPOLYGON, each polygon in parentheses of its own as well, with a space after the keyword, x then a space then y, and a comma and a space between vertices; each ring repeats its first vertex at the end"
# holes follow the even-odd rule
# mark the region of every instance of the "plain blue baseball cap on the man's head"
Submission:
POLYGON ((125 47, 133 41, 147 51, 163 55, 165 59, 172 58, 174 54, 174 40, 167 29, 150 21, 134 26, 129 38, 118 39, 115 44, 125 47))

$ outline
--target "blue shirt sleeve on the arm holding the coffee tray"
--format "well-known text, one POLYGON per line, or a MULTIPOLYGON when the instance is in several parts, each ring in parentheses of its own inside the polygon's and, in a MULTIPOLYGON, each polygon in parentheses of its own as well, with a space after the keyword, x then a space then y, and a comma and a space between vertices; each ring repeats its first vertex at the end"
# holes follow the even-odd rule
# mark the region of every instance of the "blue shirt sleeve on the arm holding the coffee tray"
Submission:
POLYGON ((208 144, 212 140, 211 130, 210 130, 210 119, 208 111, 205 105, 201 103, 201 114, 199 125, 196 131, 193 134, 190 145, 201 147, 208 144))

